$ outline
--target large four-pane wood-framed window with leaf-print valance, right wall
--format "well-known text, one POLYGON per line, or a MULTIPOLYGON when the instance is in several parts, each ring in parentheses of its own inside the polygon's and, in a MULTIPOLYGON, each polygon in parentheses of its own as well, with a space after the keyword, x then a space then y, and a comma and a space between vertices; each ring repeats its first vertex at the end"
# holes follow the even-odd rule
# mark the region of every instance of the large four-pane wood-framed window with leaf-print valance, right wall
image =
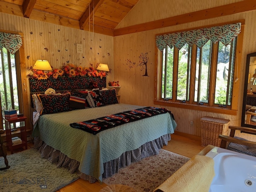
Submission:
MULTIPOLYGON (((210 30, 218 27, 222 26, 210 30)), ((239 28, 239 24, 236 27, 239 28)), ((235 61, 240 31, 229 36, 230 40, 220 40, 225 36, 221 34, 218 40, 204 38, 192 43, 190 39, 198 31, 202 32, 201 38, 204 30, 209 28, 156 36, 157 79, 161 82, 155 89, 155 104, 196 110, 208 108, 222 113, 225 113, 222 109, 236 110, 237 98, 234 101, 232 98, 233 90, 238 89, 238 84, 234 86, 233 82, 238 75, 235 61)))

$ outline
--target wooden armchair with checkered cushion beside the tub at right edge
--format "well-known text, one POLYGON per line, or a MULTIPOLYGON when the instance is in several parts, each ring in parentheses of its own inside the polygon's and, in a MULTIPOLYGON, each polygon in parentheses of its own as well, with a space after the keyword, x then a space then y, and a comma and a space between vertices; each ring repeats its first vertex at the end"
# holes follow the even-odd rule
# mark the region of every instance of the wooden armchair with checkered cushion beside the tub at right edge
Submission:
POLYGON ((256 142, 235 136, 236 130, 247 134, 254 134, 255 136, 256 129, 239 126, 229 126, 229 128, 230 136, 219 135, 219 138, 221 139, 220 147, 256 157, 256 142))

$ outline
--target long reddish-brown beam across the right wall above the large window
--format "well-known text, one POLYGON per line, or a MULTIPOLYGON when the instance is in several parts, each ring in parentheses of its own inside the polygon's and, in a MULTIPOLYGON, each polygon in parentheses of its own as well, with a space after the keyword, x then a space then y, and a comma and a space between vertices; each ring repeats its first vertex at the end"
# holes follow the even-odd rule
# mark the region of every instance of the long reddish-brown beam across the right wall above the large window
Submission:
POLYGON ((232 14, 246 12, 250 10, 256 10, 255 0, 244 0, 244 1, 231 3, 223 6, 218 6, 218 7, 190 12, 190 13, 186 13, 178 16, 173 16, 166 19, 160 19, 160 20, 151 21, 147 23, 137 24, 134 26, 114 29, 114 36, 142 32, 142 31, 164 28, 169 26, 175 26, 175 25, 195 22, 199 20, 206 20, 206 19, 211 19, 211 18, 216 18, 221 16, 232 15, 232 14))

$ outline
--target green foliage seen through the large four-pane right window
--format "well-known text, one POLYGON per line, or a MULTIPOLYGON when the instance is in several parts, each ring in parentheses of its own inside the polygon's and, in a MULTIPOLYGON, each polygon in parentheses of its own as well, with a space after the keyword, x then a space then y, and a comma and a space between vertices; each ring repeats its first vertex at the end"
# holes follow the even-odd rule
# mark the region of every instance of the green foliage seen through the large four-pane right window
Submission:
MULTIPOLYGON (((234 52, 231 50, 231 44, 225 46, 221 42, 218 45, 218 63, 217 63, 217 75, 216 75, 216 87, 215 87, 215 104, 223 104, 230 105, 231 103, 231 92, 232 92, 232 73, 233 73, 233 64, 229 65, 230 62, 230 54, 234 52), (229 67, 230 74, 228 73, 229 67), (228 87, 228 78, 230 75, 230 85, 228 87), (229 94, 227 94, 229 92, 229 94), (228 97, 228 99, 227 99, 228 97), (228 103, 226 103, 228 100, 228 103)), ((174 64, 174 48, 170 49, 167 46, 167 62, 165 59, 163 60, 163 65, 167 65, 167 71, 162 70, 162 98, 172 98, 173 93, 173 64, 174 64), (166 77, 165 77, 166 75, 166 77), (164 80, 166 79, 166 82, 164 80), (166 87, 165 86, 166 83, 166 87), (166 96, 164 96, 163 92, 166 88, 166 96)), ((177 100, 188 100, 188 91, 189 91, 189 82, 190 82, 190 62, 191 62, 191 54, 189 54, 188 44, 185 44, 183 48, 179 50, 178 53, 178 76, 177 76, 177 100), (188 74, 189 73, 189 74, 188 74)), ((210 61, 211 61, 211 51, 212 51, 212 43, 209 40, 203 48, 197 49, 197 58, 196 62, 199 62, 199 56, 201 54, 201 74, 200 76, 196 76, 195 82, 195 101, 196 102, 208 102, 208 89, 209 89, 209 78, 210 78, 210 61), (198 90, 198 80, 200 80, 200 89, 198 90), (197 91, 200 91, 199 97, 197 98, 197 91)), ((166 54, 166 49, 163 51, 166 54)), ((165 56, 165 55, 164 55, 165 56)), ((232 57, 232 56, 231 56, 232 57)), ((197 64, 198 65, 198 64, 197 64)), ((197 66, 198 67, 198 66, 197 66)), ((198 68, 196 69, 198 73, 198 68)))

